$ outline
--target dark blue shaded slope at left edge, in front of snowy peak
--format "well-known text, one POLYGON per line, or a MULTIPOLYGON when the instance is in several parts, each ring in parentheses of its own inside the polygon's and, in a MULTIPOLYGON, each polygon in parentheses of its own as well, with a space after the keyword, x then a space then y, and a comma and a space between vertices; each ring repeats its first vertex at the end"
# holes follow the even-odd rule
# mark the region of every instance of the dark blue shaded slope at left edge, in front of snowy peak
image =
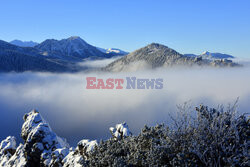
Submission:
POLYGON ((77 71, 78 67, 71 62, 43 56, 32 47, 19 47, 0 40, 0 72, 77 71))

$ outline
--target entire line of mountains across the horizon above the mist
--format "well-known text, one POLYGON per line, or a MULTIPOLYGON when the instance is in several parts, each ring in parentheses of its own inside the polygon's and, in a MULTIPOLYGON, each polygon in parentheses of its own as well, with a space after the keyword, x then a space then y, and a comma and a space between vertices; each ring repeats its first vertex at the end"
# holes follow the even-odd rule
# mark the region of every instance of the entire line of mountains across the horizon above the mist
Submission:
POLYGON ((78 36, 62 40, 47 39, 40 44, 18 40, 11 43, 0 40, 0 72, 76 72, 87 68, 81 66, 79 62, 121 55, 124 56, 103 69, 106 71, 134 71, 141 68, 178 65, 236 65, 231 60, 227 60, 233 58, 231 55, 209 52, 201 55, 182 55, 167 46, 156 43, 130 54, 120 49, 102 49, 92 46, 78 36))

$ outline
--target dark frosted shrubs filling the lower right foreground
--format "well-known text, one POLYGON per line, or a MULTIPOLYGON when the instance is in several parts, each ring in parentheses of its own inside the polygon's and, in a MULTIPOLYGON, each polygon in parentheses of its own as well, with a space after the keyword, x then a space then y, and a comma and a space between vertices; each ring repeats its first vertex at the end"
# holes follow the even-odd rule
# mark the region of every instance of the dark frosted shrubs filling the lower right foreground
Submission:
POLYGON ((101 142, 89 166, 248 166, 250 122, 235 107, 201 105, 196 118, 179 109, 174 128, 145 126, 138 136, 101 142))

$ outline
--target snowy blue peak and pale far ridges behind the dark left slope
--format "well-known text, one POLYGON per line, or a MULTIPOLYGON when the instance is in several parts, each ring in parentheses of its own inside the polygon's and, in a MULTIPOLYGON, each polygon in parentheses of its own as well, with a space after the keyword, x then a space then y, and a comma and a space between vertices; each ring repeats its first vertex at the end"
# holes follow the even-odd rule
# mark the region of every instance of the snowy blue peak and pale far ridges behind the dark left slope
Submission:
POLYGON ((55 40, 55 39, 47 39, 42 43, 37 43, 33 41, 21 41, 21 40, 13 40, 10 42, 13 45, 20 47, 35 47, 38 50, 42 51, 42 55, 53 55, 58 58, 63 59, 82 59, 91 57, 92 59, 98 58, 99 56, 103 56, 103 53, 106 53, 106 57, 113 56, 122 56, 127 55, 128 52, 125 52, 121 49, 109 48, 103 49, 100 47, 94 47, 86 43, 83 39, 78 36, 72 36, 67 39, 55 40), (102 53, 100 53, 99 51, 102 53), (95 51, 94 51, 95 50, 95 51), (91 51, 91 52, 89 52, 91 51))

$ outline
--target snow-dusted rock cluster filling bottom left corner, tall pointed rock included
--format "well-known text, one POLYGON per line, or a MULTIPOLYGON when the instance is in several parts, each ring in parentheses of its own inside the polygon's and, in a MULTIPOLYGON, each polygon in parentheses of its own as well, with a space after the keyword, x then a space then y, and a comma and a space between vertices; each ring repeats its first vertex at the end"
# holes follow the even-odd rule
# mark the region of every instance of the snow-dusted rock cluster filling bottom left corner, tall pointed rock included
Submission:
POLYGON ((24 144, 18 148, 14 137, 2 141, 2 166, 50 166, 69 152, 65 139, 58 137, 36 110, 25 114, 21 137, 24 144))

